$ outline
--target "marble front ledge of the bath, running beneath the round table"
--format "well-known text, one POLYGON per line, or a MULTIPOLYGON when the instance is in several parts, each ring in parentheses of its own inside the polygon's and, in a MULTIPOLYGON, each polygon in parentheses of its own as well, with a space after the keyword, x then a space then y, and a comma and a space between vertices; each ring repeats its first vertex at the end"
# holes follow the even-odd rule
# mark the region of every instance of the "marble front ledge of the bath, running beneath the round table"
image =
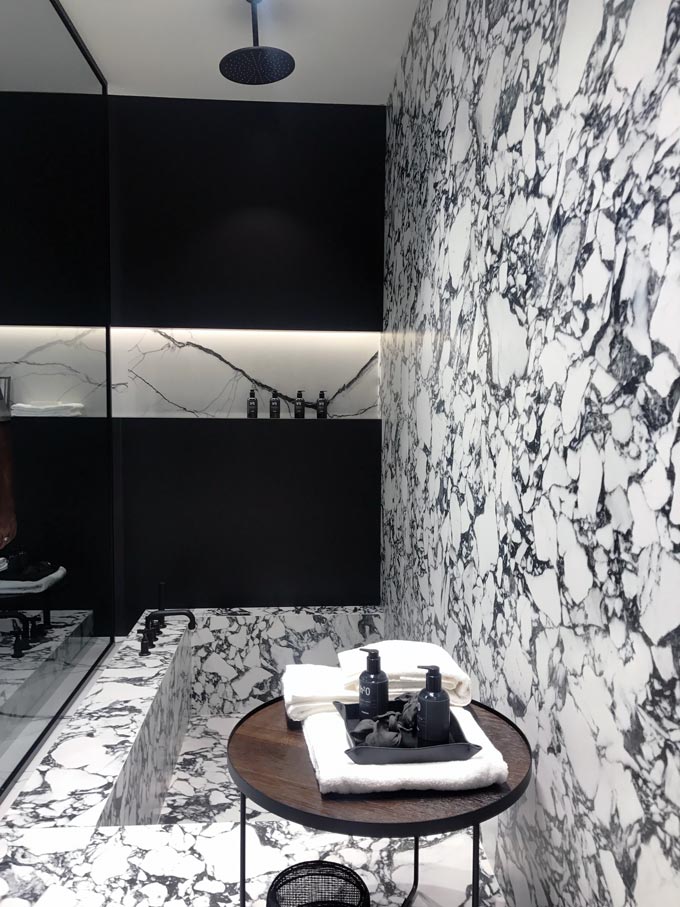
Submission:
MULTIPOLYGON (((412 881, 409 839, 315 832, 251 820, 247 893, 264 907, 274 877, 294 863, 328 859, 366 882, 374 907, 400 907, 412 881)), ((432 907, 466 907, 472 844, 466 832, 421 840, 420 890, 432 907)), ((504 907, 482 854, 483 907, 504 907)), ((236 907, 239 828, 230 822, 127 828, 12 829, 0 841, 0 899, 12 907, 236 907)))

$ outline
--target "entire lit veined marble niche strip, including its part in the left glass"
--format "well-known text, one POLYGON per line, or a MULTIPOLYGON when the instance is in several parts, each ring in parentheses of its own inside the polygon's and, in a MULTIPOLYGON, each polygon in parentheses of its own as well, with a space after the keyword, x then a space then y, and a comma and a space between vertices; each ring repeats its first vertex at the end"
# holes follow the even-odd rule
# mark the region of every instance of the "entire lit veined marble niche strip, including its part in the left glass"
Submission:
MULTIPOLYGON (((245 418, 254 388, 260 418, 272 390, 282 419, 298 390, 314 418, 324 390, 329 418, 377 419, 379 345, 369 331, 113 328, 113 415, 245 418)), ((105 416, 105 329, 2 325, 0 377, 12 379, 15 416, 105 416)))

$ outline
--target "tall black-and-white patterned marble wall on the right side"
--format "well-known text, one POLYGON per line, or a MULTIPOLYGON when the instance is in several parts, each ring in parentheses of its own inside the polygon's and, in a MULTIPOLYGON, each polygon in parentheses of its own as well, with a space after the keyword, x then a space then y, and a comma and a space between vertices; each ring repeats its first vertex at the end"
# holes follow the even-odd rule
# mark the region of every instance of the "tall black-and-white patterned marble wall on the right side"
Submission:
POLYGON ((680 888, 680 4, 423 0, 389 109, 388 633, 534 745, 509 903, 680 888))

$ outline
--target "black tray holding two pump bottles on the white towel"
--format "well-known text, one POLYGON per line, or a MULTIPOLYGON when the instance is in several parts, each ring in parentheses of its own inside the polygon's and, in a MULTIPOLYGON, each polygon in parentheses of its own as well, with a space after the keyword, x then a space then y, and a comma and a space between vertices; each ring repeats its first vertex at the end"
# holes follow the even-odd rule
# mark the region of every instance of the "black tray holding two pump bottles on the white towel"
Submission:
MULTIPOLYGON (((451 715, 449 726, 449 742, 441 746, 357 746, 350 737, 357 724, 362 720, 359 712, 359 703, 345 705, 334 702, 347 728, 347 739, 351 743, 345 750, 352 762, 358 765, 405 765, 414 762, 464 762, 481 750, 476 743, 468 743, 460 725, 451 715)), ((387 703, 387 711, 401 712, 404 707, 403 700, 387 703)))

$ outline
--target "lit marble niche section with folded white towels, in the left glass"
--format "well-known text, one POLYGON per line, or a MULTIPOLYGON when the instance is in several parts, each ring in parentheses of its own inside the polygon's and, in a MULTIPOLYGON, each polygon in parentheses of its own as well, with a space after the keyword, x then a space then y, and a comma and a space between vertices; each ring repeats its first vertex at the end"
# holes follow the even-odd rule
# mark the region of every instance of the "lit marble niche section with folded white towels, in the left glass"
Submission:
POLYGON ((15 416, 45 406, 50 415, 106 416, 106 331, 0 325, 0 377, 12 379, 15 416))

